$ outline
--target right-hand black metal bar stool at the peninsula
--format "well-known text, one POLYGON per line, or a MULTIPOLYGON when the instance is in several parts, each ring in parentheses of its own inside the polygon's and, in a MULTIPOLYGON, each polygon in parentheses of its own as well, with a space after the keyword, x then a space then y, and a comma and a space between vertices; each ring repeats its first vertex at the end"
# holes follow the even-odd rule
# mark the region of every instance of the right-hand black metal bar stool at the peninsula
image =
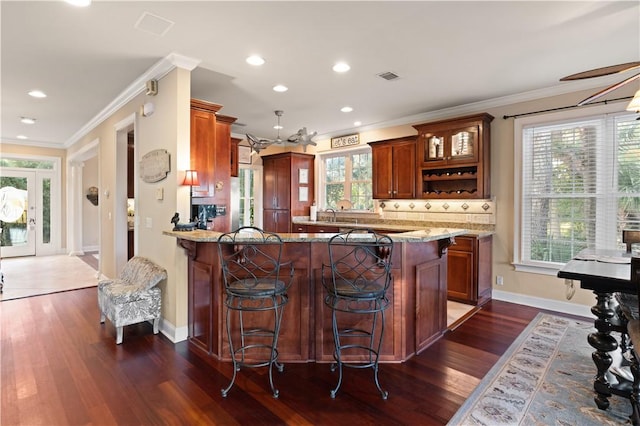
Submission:
POLYGON ((330 264, 322 265, 322 284, 327 291, 324 303, 332 313, 335 363, 331 371, 338 369, 338 384, 331 390, 331 398, 342 384, 343 367, 372 368, 382 399, 389 395, 380 387, 378 360, 384 311, 389 306, 386 292, 392 279, 392 250, 391 238, 371 230, 340 233, 329 240, 330 264), (363 320, 363 316, 371 319, 363 320), (345 361, 345 355, 356 361, 345 361))

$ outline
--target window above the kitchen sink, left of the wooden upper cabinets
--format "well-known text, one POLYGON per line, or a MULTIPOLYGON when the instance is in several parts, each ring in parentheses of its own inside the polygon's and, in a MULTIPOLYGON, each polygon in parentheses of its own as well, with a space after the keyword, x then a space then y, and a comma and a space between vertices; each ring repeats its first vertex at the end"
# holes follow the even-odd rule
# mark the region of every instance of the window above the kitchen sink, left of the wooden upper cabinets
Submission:
POLYGON ((323 155, 321 168, 322 207, 349 200, 355 210, 373 209, 370 148, 323 155))

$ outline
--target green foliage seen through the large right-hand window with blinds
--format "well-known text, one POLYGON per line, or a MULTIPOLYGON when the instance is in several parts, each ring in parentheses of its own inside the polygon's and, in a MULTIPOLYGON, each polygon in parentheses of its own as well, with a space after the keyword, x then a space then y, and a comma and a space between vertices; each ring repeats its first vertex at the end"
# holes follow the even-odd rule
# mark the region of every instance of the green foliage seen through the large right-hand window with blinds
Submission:
POLYGON ((640 122, 616 122, 614 137, 617 149, 611 151, 602 145, 611 142, 603 141, 594 126, 565 127, 542 133, 540 140, 534 135, 533 172, 524 189, 533 194, 524 220, 530 227, 530 260, 568 262, 594 247, 602 223, 615 222, 615 229, 605 232, 616 232, 618 244, 622 229, 640 229, 640 122), (606 164, 605 152, 615 164, 606 164), (603 168, 612 166, 606 177, 603 168), (603 189, 607 185, 610 189, 603 189), (603 222, 599 215, 617 217, 603 222))

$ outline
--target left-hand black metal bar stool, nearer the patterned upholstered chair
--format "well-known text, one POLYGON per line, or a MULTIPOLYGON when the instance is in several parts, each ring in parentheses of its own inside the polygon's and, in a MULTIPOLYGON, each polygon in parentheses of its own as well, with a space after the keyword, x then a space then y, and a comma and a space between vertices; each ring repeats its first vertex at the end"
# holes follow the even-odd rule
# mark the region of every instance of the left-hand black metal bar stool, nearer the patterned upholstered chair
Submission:
POLYGON ((274 398, 279 396, 273 384, 273 367, 280 372, 284 369, 278 362, 278 335, 294 272, 291 262, 281 260, 282 245, 280 236, 255 227, 242 227, 218 238, 233 361, 233 377, 222 389, 223 397, 233 387, 241 367, 267 366, 271 392, 274 398), (273 316, 264 315, 269 311, 273 316), (234 312, 237 316, 232 315, 234 312))

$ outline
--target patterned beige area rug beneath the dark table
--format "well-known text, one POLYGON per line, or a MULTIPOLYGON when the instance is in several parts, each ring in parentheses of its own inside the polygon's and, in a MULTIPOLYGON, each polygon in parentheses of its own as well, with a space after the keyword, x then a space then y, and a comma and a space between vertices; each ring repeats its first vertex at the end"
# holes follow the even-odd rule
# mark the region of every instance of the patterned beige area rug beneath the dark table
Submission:
POLYGON ((449 425, 631 424, 631 404, 593 401, 593 322, 538 314, 487 373, 449 425))

